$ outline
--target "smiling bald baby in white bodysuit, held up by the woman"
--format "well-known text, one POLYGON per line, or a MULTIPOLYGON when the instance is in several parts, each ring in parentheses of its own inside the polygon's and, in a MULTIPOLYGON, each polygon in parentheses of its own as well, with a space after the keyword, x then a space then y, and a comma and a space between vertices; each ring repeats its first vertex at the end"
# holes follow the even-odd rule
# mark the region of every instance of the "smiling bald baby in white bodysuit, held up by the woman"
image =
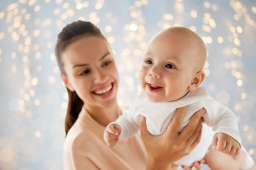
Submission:
POLYGON ((235 114, 199 87, 205 78, 202 70, 206 53, 203 40, 188 28, 168 28, 155 35, 146 48, 139 71, 142 93, 128 111, 107 125, 104 134, 107 145, 112 147, 118 140, 138 132, 140 115, 146 118, 146 128, 152 135, 161 135, 176 108, 188 106, 180 130, 193 113, 205 108, 204 122, 213 128, 214 134, 203 125, 201 142, 175 164, 191 166, 205 158, 210 169, 252 168, 255 163, 241 145, 235 114))

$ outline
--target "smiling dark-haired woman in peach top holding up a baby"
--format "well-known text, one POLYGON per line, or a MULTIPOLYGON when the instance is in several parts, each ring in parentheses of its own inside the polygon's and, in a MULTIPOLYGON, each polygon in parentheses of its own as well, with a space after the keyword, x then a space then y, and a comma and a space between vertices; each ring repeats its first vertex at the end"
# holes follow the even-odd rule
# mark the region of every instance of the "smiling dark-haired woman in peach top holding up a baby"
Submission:
MULTIPOLYGON (((180 108, 164 135, 150 135, 142 118, 144 143, 136 135, 107 147, 105 127, 122 115, 122 110, 117 104, 119 75, 106 38, 92 23, 75 21, 59 33, 55 56, 69 96, 65 169, 170 169, 198 144, 203 111, 178 133, 186 109, 180 108)), ((199 164, 196 166, 200 169, 199 164)))

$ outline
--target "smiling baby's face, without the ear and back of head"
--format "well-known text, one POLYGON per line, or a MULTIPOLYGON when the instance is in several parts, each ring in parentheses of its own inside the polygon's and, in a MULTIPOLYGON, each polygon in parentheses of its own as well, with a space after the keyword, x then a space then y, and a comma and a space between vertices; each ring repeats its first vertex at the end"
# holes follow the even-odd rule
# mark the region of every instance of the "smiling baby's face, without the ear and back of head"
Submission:
POLYGON ((149 42, 139 84, 150 101, 175 101, 188 93, 197 72, 194 46, 186 36, 175 34, 159 34, 149 42))

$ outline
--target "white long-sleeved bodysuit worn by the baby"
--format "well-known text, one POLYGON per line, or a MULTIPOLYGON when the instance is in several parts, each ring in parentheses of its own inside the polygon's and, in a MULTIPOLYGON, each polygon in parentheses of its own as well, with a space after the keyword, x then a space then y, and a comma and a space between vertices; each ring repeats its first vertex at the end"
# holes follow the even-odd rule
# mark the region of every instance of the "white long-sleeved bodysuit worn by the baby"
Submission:
POLYGON ((235 114, 229 108, 221 105, 208 95, 205 88, 200 87, 196 91, 188 93, 177 101, 154 103, 142 93, 132 102, 129 110, 124 112, 114 123, 120 125, 121 133, 119 140, 132 137, 139 130, 139 115, 146 118, 146 127, 152 135, 161 135, 165 132, 176 108, 188 106, 181 123, 180 131, 188 124, 191 116, 201 108, 206 108, 203 115, 204 122, 212 127, 203 125, 201 142, 193 149, 191 154, 179 159, 175 164, 191 166, 193 162, 203 159, 208 152, 213 135, 223 132, 237 140, 241 145, 238 121, 235 114), (214 131, 214 132, 213 132, 214 131))

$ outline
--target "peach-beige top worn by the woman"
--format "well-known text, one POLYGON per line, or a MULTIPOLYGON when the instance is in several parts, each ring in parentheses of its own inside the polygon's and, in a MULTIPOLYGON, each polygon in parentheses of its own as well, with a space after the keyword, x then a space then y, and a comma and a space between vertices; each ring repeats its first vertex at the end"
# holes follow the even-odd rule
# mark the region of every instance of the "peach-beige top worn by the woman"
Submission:
POLYGON ((146 149, 139 135, 107 147, 105 127, 82 109, 64 142, 64 169, 146 169, 146 149))

